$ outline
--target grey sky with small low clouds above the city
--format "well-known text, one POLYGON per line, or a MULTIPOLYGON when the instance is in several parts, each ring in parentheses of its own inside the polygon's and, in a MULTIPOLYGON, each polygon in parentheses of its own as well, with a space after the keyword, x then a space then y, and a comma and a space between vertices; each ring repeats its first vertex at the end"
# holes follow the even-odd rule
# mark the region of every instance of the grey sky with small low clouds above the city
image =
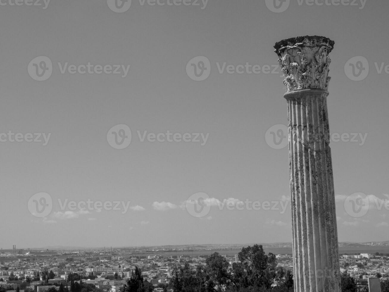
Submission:
POLYGON ((339 241, 389 240, 389 2, 15 1, 0 0, 2 248, 290 242, 273 46, 299 35, 335 41, 339 241))

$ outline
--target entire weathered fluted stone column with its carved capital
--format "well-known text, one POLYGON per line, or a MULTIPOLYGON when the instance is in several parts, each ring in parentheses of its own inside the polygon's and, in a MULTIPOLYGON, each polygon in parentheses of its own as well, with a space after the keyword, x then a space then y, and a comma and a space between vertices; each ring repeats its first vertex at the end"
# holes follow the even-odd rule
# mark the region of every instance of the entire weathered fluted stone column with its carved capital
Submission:
POLYGON ((289 119, 289 171, 295 292, 340 292, 329 125, 329 63, 334 42, 305 36, 275 44, 289 119))

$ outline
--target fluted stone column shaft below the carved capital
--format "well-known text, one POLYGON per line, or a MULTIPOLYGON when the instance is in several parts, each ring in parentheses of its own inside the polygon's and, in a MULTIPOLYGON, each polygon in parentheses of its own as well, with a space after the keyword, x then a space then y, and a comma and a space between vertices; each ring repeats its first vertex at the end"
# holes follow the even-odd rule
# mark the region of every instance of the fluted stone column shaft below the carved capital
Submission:
POLYGON ((295 292, 340 291, 326 90, 291 91, 289 171, 295 292))

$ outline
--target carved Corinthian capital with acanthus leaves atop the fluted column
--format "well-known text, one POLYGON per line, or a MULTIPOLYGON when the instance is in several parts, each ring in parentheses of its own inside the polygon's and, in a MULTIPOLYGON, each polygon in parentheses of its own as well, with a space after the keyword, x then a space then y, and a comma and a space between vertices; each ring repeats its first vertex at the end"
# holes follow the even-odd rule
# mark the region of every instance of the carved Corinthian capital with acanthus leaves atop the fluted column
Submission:
POLYGON ((309 88, 327 90, 329 64, 328 54, 334 41, 327 37, 304 36, 275 43, 275 52, 284 74, 286 92, 309 88))

